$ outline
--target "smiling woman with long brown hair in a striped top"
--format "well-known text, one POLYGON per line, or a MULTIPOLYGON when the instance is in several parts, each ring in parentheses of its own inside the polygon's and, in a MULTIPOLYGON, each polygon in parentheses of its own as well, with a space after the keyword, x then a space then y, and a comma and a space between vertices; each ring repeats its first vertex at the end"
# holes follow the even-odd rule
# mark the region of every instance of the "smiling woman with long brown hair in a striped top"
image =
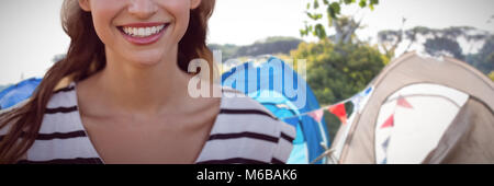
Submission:
POLYGON ((259 103, 212 82, 221 97, 188 92, 190 61, 213 66, 214 3, 66 0, 67 56, 0 113, 0 163, 287 162, 294 129, 259 103))

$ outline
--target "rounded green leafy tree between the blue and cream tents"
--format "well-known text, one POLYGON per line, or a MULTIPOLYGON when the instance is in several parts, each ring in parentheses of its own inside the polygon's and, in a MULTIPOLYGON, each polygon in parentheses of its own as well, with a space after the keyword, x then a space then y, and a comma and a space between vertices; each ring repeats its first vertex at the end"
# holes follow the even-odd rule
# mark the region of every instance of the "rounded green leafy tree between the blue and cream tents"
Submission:
MULTIPOLYGON (((306 59, 306 81, 322 105, 337 103, 362 91, 389 61, 377 47, 367 43, 334 44, 328 38, 302 43, 291 56, 306 59)), ((334 137, 339 121, 332 115, 325 118, 329 135, 334 137)))

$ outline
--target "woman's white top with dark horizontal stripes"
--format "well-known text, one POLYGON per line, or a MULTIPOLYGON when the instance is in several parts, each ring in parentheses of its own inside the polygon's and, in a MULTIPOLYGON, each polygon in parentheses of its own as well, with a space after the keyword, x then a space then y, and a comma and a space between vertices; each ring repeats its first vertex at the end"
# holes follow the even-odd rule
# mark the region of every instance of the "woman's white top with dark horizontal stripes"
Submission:
MULTIPOLYGON (((294 137, 292 126, 280 121, 258 102, 224 89, 220 114, 195 163, 282 164, 288 161, 294 137)), ((38 137, 18 163, 104 163, 82 125, 76 83, 52 96, 38 137)))

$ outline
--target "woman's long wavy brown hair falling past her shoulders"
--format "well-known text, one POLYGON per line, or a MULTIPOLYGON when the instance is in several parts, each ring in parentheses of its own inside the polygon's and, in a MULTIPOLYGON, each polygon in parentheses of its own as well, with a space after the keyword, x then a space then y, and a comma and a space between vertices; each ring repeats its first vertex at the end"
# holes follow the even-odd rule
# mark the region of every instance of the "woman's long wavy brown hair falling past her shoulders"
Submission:
MULTIPOLYGON (((195 58, 213 62, 206 47, 207 21, 215 0, 202 0, 190 11, 189 27, 179 43, 178 66, 184 72, 195 58)), ((15 163, 33 146, 37 138, 43 116, 54 94, 65 81, 82 81, 102 70, 106 65, 104 45, 98 37, 90 12, 85 12, 77 0, 65 0, 61 8, 61 25, 70 37, 65 59, 56 62, 45 74, 33 96, 23 105, 0 114, 0 129, 9 129, 0 137, 0 163, 15 163)))

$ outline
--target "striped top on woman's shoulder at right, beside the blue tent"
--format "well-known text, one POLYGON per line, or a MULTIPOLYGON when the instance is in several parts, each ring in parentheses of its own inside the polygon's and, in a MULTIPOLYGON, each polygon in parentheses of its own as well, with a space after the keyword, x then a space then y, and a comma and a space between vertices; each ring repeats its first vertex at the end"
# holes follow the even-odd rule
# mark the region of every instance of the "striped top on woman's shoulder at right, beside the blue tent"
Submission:
POLYGON ((294 127, 279 120, 259 102, 232 89, 223 90, 216 125, 200 163, 285 163, 294 127))

